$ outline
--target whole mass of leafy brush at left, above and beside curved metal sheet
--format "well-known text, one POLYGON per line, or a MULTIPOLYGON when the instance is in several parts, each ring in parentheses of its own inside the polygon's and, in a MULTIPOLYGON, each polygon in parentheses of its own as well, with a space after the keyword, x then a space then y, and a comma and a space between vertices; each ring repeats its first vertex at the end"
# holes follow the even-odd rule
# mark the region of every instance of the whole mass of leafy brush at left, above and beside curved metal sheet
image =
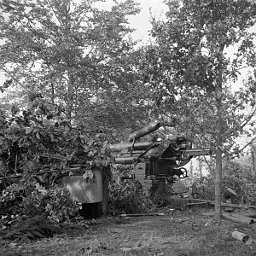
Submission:
POLYGON ((93 182, 93 168, 109 170, 108 137, 102 131, 73 127, 41 98, 32 106, 1 120, 1 213, 17 218, 45 213, 51 221, 63 222, 75 216, 79 206, 55 181, 78 172, 93 182))

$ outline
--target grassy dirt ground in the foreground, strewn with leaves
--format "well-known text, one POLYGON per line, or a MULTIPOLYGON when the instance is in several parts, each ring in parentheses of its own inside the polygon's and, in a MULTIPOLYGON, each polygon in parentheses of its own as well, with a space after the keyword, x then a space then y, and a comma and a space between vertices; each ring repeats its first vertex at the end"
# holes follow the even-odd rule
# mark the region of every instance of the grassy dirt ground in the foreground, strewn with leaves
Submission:
POLYGON ((164 216, 79 220, 62 226, 62 233, 38 241, 1 239, 0 255, 256 255, 256 224, 214 222, 211 209, 173 211, 164 216), (231 233, 252 237, 245 245, 231 233))

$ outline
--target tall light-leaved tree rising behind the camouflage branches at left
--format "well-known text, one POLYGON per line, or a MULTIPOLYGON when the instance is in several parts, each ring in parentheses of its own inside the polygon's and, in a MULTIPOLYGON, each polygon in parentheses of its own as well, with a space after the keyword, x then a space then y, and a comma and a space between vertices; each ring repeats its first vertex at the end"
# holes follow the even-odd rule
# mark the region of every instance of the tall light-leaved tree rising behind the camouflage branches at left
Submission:
MULTIPOLYGON (((3 87, 21 87, 30 101, 40 94, 86 127, 121 126, 143 118, 143 87, 127 15, 133 0, 99 10, 102 1, 3 1, 0 68, 3 87), (116 109, 119 109, 117 112, 116 109)), ((2 88, 3 89, 3 88, 2 88)))

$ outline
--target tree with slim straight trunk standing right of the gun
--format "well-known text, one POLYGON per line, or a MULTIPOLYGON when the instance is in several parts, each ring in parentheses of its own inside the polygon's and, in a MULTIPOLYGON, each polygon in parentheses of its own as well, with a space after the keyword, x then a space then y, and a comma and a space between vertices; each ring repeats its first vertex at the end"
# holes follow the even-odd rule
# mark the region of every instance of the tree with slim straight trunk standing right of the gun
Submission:
POLYGON ((178 128, 197 146, 211 146, 219 220, 223 158, 238 153, 236 138, 245 132, 252 135, 254 129, 255 77, 239 90, 232 84, 243 67, 256 64, 249 31, 255 24, 256 3, 170 0, 166 4, 166 21, 153 20, 155 44, 145 50, 144 78, 154 90, 155 113, 176 119, 178 128))

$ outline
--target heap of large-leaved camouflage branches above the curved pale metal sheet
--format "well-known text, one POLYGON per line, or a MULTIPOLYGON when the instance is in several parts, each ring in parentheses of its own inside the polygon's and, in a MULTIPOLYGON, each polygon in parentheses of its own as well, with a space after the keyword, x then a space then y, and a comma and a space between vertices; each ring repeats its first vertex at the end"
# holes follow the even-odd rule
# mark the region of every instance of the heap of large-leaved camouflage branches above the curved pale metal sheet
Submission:
POLYGON ((51 169, 62 173, 68 172, 72 163, 83 165, 84 170, 109 165, 111 157, 105 133, 72 127, 71 122, 61 113, 55 113, 55 109, 49 109, 43 100, 32 103, 32 108, 2 121, 0 154, 9 166, 3 176, 37 172, 49 162, 51 169), (31 162, 34 165, 29 165, 31 162))

